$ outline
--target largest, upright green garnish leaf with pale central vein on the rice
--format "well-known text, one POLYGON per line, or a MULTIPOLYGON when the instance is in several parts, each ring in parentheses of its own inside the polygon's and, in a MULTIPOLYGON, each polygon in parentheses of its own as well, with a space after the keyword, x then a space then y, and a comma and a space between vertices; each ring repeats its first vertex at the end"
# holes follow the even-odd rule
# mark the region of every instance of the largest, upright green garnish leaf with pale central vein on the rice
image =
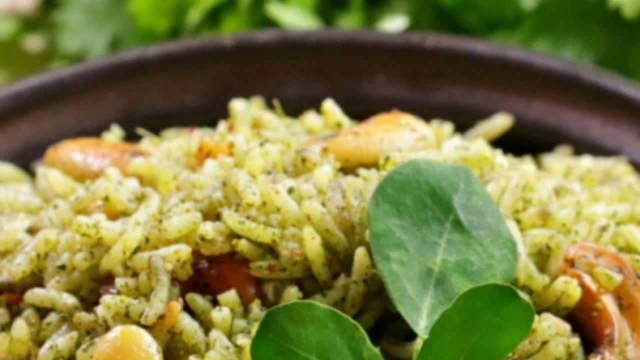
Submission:
POLYGON ((464 291, 515 275, 515 240, 467 167, 399 165, 376 188, 368 220, 378 271, 421 336, 464 291))

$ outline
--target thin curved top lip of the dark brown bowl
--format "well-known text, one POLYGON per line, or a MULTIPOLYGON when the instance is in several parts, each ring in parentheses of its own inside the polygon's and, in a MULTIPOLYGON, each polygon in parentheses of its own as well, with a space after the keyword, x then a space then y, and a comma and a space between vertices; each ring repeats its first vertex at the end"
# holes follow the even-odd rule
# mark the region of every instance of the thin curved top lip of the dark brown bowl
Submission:
POLYGON ((524 70, 545 72, 558 79, 573 81, 588 88, 598 88, 625 101, 640 104, 640 86, 619 74, 593 65, 576 63, 522 47, 474 37, 427 31, 389 34, 371 30, 323 29, 296 32, 262 29, 236 35, 174 40, 36 74, 0 88, 0 119, 22 110, 29 104, 68 94, 77 88, 86 88, 110 74, 145 67, 159 59, 172 61, 196 54, 214 55, 232 49, 276 45, 320 47, 360 45, 380 47, 381 51, 409 48, 420 52, 439 51, 458 56, 472 56, 477 60, 508 63, 524 70))

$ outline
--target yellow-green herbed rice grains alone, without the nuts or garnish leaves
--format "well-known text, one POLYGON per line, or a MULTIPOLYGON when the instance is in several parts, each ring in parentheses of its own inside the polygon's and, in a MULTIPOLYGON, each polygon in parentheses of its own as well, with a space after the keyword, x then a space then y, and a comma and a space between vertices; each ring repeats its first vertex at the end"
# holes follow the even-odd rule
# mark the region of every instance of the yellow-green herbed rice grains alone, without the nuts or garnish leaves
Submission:
MULTIPOLYGON (((132 161, 132 177, 109 168, 79 183, 38 165, 32 179, 0 163, 0 293, 26 290, 19 305, 0 295, 1 359, 86 359, 93 340, 134 323, 166 359, 248 360, 266 309, 298 299, 371 329, 393 309, 369 253, 367 200, 385 172, 416 158, 467 165, 518 241, 515 285, 538 316, 513 357, 584 359, 562 318, 580 299, 579 284, 550 268, 569 244, 611 247, 640 272, 640 177, 624 158, 575 156, 566 146, 537 158, 506 154, 487 141, 513 122, 500 114, 464 135, 432 120, 435 149, 392 152, 378 168, 347 174, 321 147, 307 146, 354 124, 335 102, 298 119, 260 98, 234 99, 229 112, 214 129, 138 131, 151 155, 132 161), (230 143, 232 156, 198 164, 203 139, 230 143), (176 281, 193 274, 192 250, 248 259, 264 299, 245 308, 235 290, 180 293, 176 281), (101 295, 109 279, 113 291, 101 295)), ((124 132, 111 127, 102 136, 119 142, 124 132)), ((620 282, 597 273, 605 286, 620 282)))

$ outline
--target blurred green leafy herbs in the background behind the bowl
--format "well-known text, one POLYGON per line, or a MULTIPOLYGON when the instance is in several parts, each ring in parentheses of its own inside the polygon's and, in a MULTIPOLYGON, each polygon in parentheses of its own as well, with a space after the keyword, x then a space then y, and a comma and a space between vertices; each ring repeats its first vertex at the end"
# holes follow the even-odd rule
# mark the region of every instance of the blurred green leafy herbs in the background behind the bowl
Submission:
POLYGON ((640 0, 0 0, 0 84, 142 45, 259 28, 474 35, 640 80, 640 0))

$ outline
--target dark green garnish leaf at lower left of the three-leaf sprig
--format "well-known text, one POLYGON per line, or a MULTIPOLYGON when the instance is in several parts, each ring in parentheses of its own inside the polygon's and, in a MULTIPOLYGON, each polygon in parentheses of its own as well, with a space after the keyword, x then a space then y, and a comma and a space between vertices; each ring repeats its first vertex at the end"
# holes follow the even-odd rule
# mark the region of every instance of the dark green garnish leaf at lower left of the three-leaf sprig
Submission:
POLYGON ((362 327, 332 307, 297 301, 270 309, 253 338, 253 360, 382 360, 362 327))

